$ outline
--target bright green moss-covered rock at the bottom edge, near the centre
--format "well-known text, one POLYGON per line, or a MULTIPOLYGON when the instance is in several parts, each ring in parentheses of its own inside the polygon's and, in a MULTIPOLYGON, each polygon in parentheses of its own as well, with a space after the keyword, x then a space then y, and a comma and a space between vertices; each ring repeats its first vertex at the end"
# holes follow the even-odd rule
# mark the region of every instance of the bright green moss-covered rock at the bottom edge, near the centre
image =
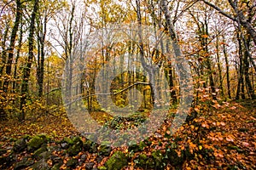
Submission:
POLYGON ((119 170, 128 164, 125 154, 121 151, 116 151, 106 162, 106 167, 109 170, 119 170))

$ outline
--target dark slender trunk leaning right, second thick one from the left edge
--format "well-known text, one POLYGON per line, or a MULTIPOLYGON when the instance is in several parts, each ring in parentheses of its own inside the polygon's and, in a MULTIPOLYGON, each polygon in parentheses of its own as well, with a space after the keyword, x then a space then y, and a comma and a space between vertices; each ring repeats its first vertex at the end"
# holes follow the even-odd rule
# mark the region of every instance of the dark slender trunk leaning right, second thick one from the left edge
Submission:
POLYGON ((35 0, 31 22, 29 26, 29 35, 28 35, 28 59, 26 62, 26 67, 23 69, 23 77, 21 83, 21 98, 20 98, 20 121, 25 120, 25 105, 26 105, 26 98, 28 96, 28 82, 31 73, 31 66, 32 66, 32 59, 33 59, 33 49, 34 49, 34 32, 35 32, 35 20, 38 14, 38 3, 39 0, 35 0))

